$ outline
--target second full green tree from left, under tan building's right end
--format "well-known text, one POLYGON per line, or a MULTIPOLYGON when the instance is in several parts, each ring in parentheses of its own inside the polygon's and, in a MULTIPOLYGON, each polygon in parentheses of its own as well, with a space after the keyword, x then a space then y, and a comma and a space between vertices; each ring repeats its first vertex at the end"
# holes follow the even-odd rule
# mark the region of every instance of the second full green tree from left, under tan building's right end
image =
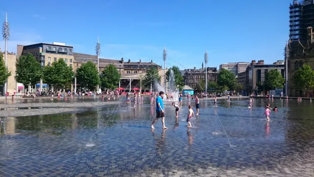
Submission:
POLYGON ((44 67, 44 81, 49 85, 53 85, 55 89, 63 88, 68 83, 72 83, 73 76, 72 66, 68 66, 62 58, 52 62, 51 66, 44 67))

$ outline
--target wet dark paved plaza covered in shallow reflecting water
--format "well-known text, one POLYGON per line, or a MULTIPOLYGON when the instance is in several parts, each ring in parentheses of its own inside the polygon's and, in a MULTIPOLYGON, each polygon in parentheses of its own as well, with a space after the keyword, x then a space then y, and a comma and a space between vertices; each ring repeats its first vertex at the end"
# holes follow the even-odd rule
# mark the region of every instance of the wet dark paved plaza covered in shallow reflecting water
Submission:
POLYGON ((155 106, 146 99, 135 107, 123 99, 78 113, 1 117, 0 176, 314 176, 314 102, 255 99, 248 109, 247 99, 218 100, 218 107, 203 100, 187 128, 183 100, 178 119, 165 104, 169 129, 158 120, 152 131, 155 106), (263 117, 268 102, 279 109, 271 122, 263 117))

